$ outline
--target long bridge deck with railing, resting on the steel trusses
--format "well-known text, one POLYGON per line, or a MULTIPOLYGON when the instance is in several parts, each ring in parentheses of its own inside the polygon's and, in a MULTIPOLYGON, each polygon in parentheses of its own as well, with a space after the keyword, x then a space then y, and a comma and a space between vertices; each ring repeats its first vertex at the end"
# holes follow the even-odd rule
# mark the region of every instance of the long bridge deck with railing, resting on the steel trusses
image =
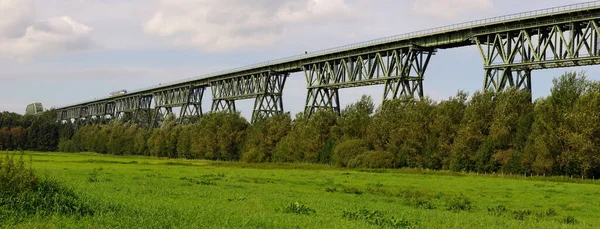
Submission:
MULTIPOLYGON (((235 78, 265 71, 299 72, 302 66, 327 60, 337 60, 373 52, 394 50, 418 45, 433 49, 446 49, 473 45, 472 38, 498 32, 534 28, 543 25, 553 25, 578 20, 600 19, 600 1, 572 4, 536 11, 523 12, 477 21, 465 22, 449 26, 437 27, 397 36, 335 47, 312 52, 310 54, 287 57, 278 60, 258 63, 250 66, 224 70, 198 77, 183 79, 167 84, 130 91, 126 96, 148 95, 155 91, 165 90, 182 85, 209 85, 211 81, 235 78)), ((112 101, 118 97, 104 97, 63 106, 57 109, 67 109, 80 105, 112 101)))

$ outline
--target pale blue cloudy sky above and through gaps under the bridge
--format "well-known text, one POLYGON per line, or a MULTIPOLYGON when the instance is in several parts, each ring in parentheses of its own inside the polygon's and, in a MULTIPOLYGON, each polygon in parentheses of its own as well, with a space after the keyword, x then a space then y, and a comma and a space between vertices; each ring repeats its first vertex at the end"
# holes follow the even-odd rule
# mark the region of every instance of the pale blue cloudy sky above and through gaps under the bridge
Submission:
MULTIPOLYGON (((0 0, 0 111, 24 113, 253 63, 580 0, 0 0)), ((535 98, 567 70, 535 71, 535 98)), ((425 94, 447 99, 483 87, 476 47, 439 50, 425 94)), ((303 110, 306 80, 292 74, 284 109, 303 110)), ((383 86, 340 90, 342 107, 383 86)), ((210 92, 203 110, 210 110, 210 92)), ((245 117, 253 100, 237 101, 245 117)))

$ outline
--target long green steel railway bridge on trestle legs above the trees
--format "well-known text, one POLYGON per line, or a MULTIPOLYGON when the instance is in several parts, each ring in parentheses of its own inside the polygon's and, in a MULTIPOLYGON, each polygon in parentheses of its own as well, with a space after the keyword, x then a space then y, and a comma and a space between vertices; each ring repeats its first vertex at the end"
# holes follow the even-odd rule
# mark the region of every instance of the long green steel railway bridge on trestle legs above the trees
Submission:
POLYGON ((290 73, 303 72, 305 114, 340 111, 338 91, 384 84, 384 100, 423 97, 423 79, 435 52, 479 48, 483 89, 531 90, 537 69, 600 64, 600 1, 488 18, 336 47, 57 108, 57 120, 93 123, 113 118, 159 126, 180 107, 179 120, 194 122, 202 98, 211 111, 236 111, 235 101, 255 99, 252 121, 282 113, 290 73))

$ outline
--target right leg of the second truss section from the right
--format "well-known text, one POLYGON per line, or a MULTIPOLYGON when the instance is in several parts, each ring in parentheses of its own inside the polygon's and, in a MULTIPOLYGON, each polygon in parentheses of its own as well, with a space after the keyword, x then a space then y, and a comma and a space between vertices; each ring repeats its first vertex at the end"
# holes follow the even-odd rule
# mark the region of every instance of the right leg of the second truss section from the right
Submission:
POLYGON ((416 46, 399 53, 397 60, 393 61, 398 62, 395 66, 400 77, 385 81, 383 100, 423 98, 423 77, 434 53, 433 49, 416 46))

